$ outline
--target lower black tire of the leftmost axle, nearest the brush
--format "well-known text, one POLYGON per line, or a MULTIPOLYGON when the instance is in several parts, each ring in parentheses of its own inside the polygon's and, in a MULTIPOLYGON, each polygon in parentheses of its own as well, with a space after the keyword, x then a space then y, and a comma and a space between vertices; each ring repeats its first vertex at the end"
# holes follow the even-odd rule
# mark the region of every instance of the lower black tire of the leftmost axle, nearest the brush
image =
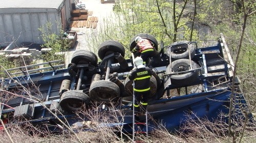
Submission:
POLYGON ((83 104, 90 104, 90 98, 87 94, 80 91, 68 91, 62 94, 59 104, 67 112, 78 111, 83 104))

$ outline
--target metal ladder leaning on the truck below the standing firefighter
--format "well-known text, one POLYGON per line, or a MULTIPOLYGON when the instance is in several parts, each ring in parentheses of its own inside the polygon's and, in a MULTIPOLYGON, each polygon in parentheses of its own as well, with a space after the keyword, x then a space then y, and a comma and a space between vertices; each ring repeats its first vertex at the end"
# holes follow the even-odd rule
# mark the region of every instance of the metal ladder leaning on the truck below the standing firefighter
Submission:
MULTIPOLYGON (((132 53, 132 58, 134 61, 134 54, 132 53)), ((133 63, 134 64, 134 63, 133 63)), ((134 81, 133 81, 133 86, 134 86, 134 81)), ((135 103, 135 96, 134 96, 134 91, 133 91, 133 104, 135 103)), ((146 122, 135 122, 135 111, 134 111, 134 105, 133 105, 133 142, 140 142, 139 140, 135 140, 135 133, 136 134, 146 134, 146 137, 148 137, 148 126, 147 126, 147 109, 145 111, 145 117, 146 117, 146 122), (142 131, 139 125, 146 126, 146 131, 142 131), (137 131, 135 131, 135 126, 137 126, 137 131)))

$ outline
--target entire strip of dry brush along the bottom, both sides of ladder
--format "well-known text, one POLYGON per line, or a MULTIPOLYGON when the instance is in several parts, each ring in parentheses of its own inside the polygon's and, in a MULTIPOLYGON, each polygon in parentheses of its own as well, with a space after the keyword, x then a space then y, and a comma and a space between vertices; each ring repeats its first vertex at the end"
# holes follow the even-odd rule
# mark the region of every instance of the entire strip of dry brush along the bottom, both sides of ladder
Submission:
MULTIPOLYGON (((102 105, 95 104, 77 112, 81 122, 71 126, 75 134, 66 128, 52 134, 47 128, 35 127, 29 123, 8 125, 7 130, 13 142, 133 142, 130 134, 122 132, 123 115, 121 109, 113 106, 102 109, 102 105)), ((232 130, 237 136, 235 140, 239 142, 243 136, 241 142, 256 142, 255 122, 247 122, 244 126, 245 120, 242 117, 239 115, 236 121, 232 121, 232 130)), ((149 118, 154 121, 152 117, 149 118)), ((148 138, 141 134, 136 135, 136 139, 143 142, 232 142, 234 138, 229 136, 224 118, 226 115, 220 115, 218 119, 209 121, 199 119, 195 113, 191 113, 187 115, 186 123, 177 134, 169 133, 164 123, 155 122, 158 126, 149 133, 148 138)), ((6 132, 0 132, 0 136, 0 142, 10 142, 6 132)))

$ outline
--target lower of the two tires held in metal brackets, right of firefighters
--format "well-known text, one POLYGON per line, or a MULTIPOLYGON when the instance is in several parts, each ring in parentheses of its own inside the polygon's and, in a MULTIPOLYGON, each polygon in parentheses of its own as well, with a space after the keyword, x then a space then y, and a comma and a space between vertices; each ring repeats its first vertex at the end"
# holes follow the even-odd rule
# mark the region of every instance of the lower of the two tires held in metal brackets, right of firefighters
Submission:
MULTIPOLYGON (((191 61, 192 64, 192 68, 193 69, 197 69, 199 66, 194 62, 191 61)), ((177 68, 177 67, 182 67, 182 66, 189 66, 189 60, 188 59, 179 59, 176 60, 174 62, 172 62, 172 70, 173 68, 177 68)), ((189 69, 182 69, 178 70, 176 72, 179 71, 188 71, 189 69)), ((167 66, 166 68, 166 73, 169 74, 170 73, 170 65, 167 66)), ((172 84, 175 85, 189 85, 190 83, 194 82, 198 77, 198 70, 196 71, 190 71, 184 74, 174 74, 174 75, 170 75, 170 81, 172 81, 172 84)))

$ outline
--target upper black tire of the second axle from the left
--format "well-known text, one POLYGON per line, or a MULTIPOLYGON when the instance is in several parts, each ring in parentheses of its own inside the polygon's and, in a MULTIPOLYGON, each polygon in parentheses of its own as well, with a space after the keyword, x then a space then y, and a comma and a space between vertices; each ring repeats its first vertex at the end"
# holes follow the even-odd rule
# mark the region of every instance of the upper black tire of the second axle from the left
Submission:
POLYGON ((104 41, 103 43, 101 43, 99 45, 98 56, 101 60, 104 59, 105 56, 107 56, 111 53, 114 53, 114 52, 118 52, 122 56, 124 56, 125 50, 124 50, 123 45, 114 40, 104 41))

